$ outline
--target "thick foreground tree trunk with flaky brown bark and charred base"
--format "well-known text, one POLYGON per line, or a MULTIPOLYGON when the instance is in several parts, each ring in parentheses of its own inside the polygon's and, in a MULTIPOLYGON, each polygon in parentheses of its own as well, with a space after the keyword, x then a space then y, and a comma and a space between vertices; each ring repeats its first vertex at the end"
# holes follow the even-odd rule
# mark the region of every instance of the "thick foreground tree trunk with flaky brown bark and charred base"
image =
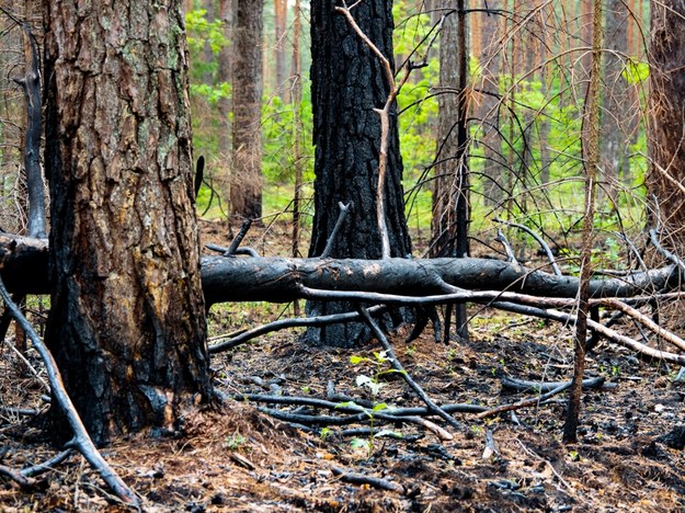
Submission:
POLYGON ((98 443, 174 430, 210 392, 182 2, 47 7, 46 341, 98 443))

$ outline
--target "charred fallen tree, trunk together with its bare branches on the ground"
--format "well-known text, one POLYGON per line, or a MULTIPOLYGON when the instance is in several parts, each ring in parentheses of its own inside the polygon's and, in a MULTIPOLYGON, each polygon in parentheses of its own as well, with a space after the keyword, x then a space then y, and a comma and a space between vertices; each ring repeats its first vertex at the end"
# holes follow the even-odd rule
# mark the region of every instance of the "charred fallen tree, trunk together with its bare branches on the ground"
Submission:
MULTIPOLYGON (((330 407, 347 413, 349 418, 345 419, 330 415, 297 417, 270 408, 262 409, 286 422, 296 423, 300 426, 302 424, 321 426, 326 425, 327 422, 332 424, 353 423, 376 418, 377 421, 390 423, 413 422, 433 432, 438 438, 448 440, 452 436, 449 432, 434 422, 423 419, 423 417, 439 417, 447 424, 457 429, 459 424, 452 417, 452 413, 456 411, 476 413, 478 417, 494 415, 538 404, 540 400, 549 399, 571 385, 570 381, 548 384, 549 387, 543 383, 534 384, 538 389, 538 395, 535 398, 494 409, 475 407, 473 404, 438 406, 404 371, 390 342, 385 337, 380 323, 374 320, 375 316, 384 314, 388 307, 413 306, 418 308, 420 315, 411 337, 418 337, 430 320, 434 324, 436 338, 439 338, 437 334, 441 329, 439 319, 434 307, 436 305, 472 303, 526 316, 574 323, 576 321, 579 280, 574 276, 561 275, 556 266, 552 274, 539 269, 527 269, 515 262, 492 259, 384 259, 368 261, 321 258, 261 258, 251 250, 236 250, 235 248, 222 252, 248 254, 248 256, 222 254, 205 256, 202 260, 203 292, 207 307, 228 301, 286 303, 295 299, 317 299, 344 300, 357 305, 357 309, 342 315, 285 319, 250 330, 242 330, 227 335, 220 343, 212 345, 209 347, 210 353, 235 347, 270 331, 295 326, 323 326, 347 321, 365 322, 384 347, 383 354, 387 355, 384 356, 384 362, 387 362, 391 372, 398 373, 426 404, 425 409, 408 410, 407 412, 392 409, 380 412, 376 411, 374 404, 359 406, 354 401, 342 403, 340 401, 329 401, 330 403, 324 401, 311 404, 320 408, 330 407), (544 388, 547 388, 547 391, 540 396, 544 388)), ((590 286, 592 298, 590 306, 595 310, 595 316, 589 320, 589 328, 595 338, 605 338, 650 358, 685 365, 685 355, 680 354, 685 351, 685 340, 665 330, 638 309, 646 305, 652 306, 657 299, 673 300, 685 295, 685 293, 678 292, 683 278, 683 264, 670 254, 664 253, 664 256, 671 262, 670 265, 641 272, 625 272, 604 280, 593 280, 590 286), (605 324, 598 321, 596 310, 600 308, 615 312, 605 324), (643 340, 627 337, 612 329, 610 324, 615 322, 618 316, 626 316, 638 323, 642 328, 643 340), (647 331, 655 334, 660 341, 670 343, 674 347, 673 351, 666 351, 662 345, 659 345, 659 349, 648 345, 649 339, 644 335, 647 331)), ((14 297, 21 298, 27 294, 49 293, 47 240, 0 235, 0 277, 14 297)), ((12 308, 12 300, 9 296, 5 297, 5 304, 9 307, 8 311, 16 310, 16 308, 12 308)), ((12 311, 12 315, 18 319, 22 317, 15 311, 12 311)), ((5 312, 4 317, 7 316, 5 312)), ((7 330, 4 320, 0 326, 7 330)), ((30 326, 26 326, 25 329, 31 331, 30 326)), ((39 340, 36 340, 35 343, 41 346, 39 340)), ((47 367, 54 364, 49 360, 49 357, 44 358, 47 367)), ((59 384, 59 379, 55 383, 59 384)), ((600 379, 589 383, 587 386, 602 386, 603 384, 604 380, 600 379)), ((50 383, 50 386, 54 387, 55 384, 50 383)), ((301 398, 274 399, 273 397, 256 396, 239 397, 238 399, 270 404, 278 402, 297 404, 304 401, 301 398)), ((69 407, 62 406, 62 408, 72 410, 69 407)), ((76 411, 73 411, 73 415, 78 419, 76 411)), ((76 436, 76 440, 80 440, 78 438, 78 430, 76 436)), ((83 440, 90 442, 87 438, 83 440)), ((95 452, 89 448, 87 443, 75 444, 75 446, 84 454, 95 454, 99 457, 95 452)), ((129 490, 121 485, 121 480, 111 472, 104 460, 95 460, 93 465, 118 497, 124 500, 132 500, 129 490)))

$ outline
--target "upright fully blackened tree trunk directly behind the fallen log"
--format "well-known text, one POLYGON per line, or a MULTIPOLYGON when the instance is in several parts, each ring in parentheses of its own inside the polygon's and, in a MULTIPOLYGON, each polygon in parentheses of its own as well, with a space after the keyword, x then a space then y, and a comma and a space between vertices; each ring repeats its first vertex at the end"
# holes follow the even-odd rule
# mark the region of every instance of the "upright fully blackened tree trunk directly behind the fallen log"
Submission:
MULTIPOLYGON (((334 0, 311 3, 311 81, 313 102, 315 217, 309 254, 321 254, 338 218, 338 204, 351 213, 330 256, 379 259, 381 239, 376 218, 380 118, 390 92, 378 58, 335 12, 334 0)), ((392 2, 368 0, 352 15, 370 42, 393 62, 392 2)), ((397 111, 390 112, 385 208, 391 256, 406 256, 411 242, 404 217, 402 160, 397 111)), ((310 315, 354 310, 345 304, 310 301, 310 315)), ((352 345, 364 337, 363 324, 310 330, 308 338, 329 345, 352 345)))

